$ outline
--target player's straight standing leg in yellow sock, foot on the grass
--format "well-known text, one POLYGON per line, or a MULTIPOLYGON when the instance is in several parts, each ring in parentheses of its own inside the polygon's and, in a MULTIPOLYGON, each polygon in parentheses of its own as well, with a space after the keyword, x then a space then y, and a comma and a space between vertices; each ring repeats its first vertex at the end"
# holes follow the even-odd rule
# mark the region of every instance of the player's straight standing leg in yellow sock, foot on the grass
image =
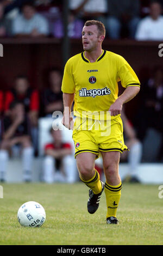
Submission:
POLYGON ((120 152, 102 152, 105 173, 106 220, 108 224, 117 224, 116 212, 121 198, 121 178, 119 175, 120 152))

